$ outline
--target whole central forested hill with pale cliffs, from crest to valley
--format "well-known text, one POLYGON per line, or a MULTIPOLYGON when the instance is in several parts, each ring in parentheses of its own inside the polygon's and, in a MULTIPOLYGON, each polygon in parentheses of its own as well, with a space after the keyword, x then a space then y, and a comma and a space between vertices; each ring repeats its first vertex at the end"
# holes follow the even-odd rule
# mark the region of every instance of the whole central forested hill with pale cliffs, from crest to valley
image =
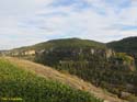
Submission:
MULTIPOLYGON (((133 44, 130 37, 129 42, 125 42, 133 44)), ((119 46, 127 46, 122 44, 119 46)), ((133 46, 134 55, 133 52, 126 52, 127 47, 123 50, 111 47, 111 43, 105 45, 94 41, 67 38, 15 48, 5 55, 31 59, 61 72, 76 75, 118 98, 134 102, 137 100, 137 70, 136 46, 133 46)))

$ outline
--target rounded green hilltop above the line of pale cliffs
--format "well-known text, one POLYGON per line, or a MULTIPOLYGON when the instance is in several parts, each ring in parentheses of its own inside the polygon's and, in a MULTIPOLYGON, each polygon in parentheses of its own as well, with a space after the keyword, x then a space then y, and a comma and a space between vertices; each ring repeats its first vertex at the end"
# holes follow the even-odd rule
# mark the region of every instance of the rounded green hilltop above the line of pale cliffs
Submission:
POLYGON ((71 48, 81 48, 81 47, 95 47, 95 48, 104 48, 105 44, 99 43, 95 41, 90 41, 90 39, 80 39, 80 38, 62 38, 62 39, 53 39, 44 43, 39 43, 33 46, 26 46, 26 47, 21 47, 21 48, 15 48, 16 49, 35 49, 35 50, 41 50, 41 49, 49 49, 49 48, 56 48, 56 47, 71 47, 71 48))

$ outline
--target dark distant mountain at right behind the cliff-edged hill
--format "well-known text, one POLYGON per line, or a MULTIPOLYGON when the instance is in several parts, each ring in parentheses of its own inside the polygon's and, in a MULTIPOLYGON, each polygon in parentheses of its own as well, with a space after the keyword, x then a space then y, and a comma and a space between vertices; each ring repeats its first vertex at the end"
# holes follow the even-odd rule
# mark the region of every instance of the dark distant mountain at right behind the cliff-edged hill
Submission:
POLYGON ((127 37, 117 42, 107 43, 106 45, 116 52, 137 53, 137 37, 127 37))

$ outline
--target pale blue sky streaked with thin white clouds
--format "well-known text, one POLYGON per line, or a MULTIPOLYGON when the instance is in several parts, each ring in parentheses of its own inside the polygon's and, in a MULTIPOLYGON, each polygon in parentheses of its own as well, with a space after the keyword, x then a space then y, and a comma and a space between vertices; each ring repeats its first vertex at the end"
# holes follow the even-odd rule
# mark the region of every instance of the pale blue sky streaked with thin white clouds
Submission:
POLYGON ((137 36, 137 0, 0 0, 0 49, 54 38, 137 36))

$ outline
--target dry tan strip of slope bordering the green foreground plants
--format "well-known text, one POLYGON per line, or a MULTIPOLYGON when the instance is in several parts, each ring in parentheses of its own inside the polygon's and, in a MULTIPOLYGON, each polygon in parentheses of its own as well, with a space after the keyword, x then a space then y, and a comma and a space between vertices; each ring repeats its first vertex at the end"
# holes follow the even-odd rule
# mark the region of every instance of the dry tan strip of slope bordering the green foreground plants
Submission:
POLYGON ((70 87, 89 91, 100 99, 109 100, 111 102, 124 102, 124 101, 117 99, 115 95, 107 93, 100 88, 95 88, 94 86, 92 86, 88 82, 84 82, 83 80, 81 80, 75 76, 70 76, 68 73, 60 73, 60 72, 54 70, 53 68, 45 67, 45 66, 42 66, 38 64, 34 64, 34 63, 31 63, 27 60, 22 60, 22 59, 18 59, 18 58, 7 58, 7 59, 9 61, 14 63, 15 65, 20 66, 20 68, 33 71, 36 75, 42 76, 44 78, 57 80, 57 81, 64 82, 66 84, 69 84, 70 87))

